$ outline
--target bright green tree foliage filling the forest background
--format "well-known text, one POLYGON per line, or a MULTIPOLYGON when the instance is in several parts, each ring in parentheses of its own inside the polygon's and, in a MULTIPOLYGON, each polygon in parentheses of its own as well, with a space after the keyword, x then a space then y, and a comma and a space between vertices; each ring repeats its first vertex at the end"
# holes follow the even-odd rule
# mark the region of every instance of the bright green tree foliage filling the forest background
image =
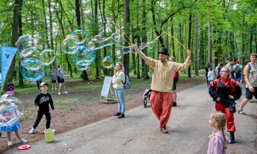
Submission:
MULTIPOLYGON (((45 4, 45 10, 42 10, 42 0, 27 0, 23 1, 22 5, 22 34, 30 34, 35 38, 36 47, 41 51, 48 48, 50 44, 50 28, 49 28, 49 12, 48 12, 48 1, 43 0, 45 4), (44 12, 47 18, 47 34, 45 29, 44 12), (48 36, 48 41, 46 40, 48 36)), ((61 49, 60 45, 64 37, 70 34, 73 30, 78 28, 76 21, 76 10, 75 1, 60 1, 51 0, 51 13, 52 13, 52 23, 53 23, 53 44, 54 51, 56 51, 56 65, 63 65, 64 70, 68 70, 68 65, 66 62, 66 55, 61 49), (63 30, 61 26, 63 26, 63 30)), ((100 2, 100 1, 98 1, 100 2)), ((82 29, 88 33, 87 41, 84 45, 94 37, 94 31, 96 27, 99 27, 98 31, 100 35, 104 35, 104 21, 100 14, 100 8, 98 4, 98 25, 94 25, 94 7, 95 1, 81 1, 81 23, 82 29), (93 2, 93 4, 91 4, 93 2), (91 8, 93 7, 93 8, 91 8)), ((12 37, 12 16, 14 9, 14 1, 10 0, 0 0, 0 45, 10 46, 12 37)), ((203 33, 203 38, 199 37, 199 43, 202 42, 203 46, 199 46, 199 50, 203 51, 200 53, 198 51, 198 62, 201 67, 205 65, 208 59, 208 23, 212 26, 212 59, 217 59, 218 61, 223 60, 225 56, 232 56, 232 60, 240 59, 241 61, 245 59, 245 55, 250 52, 256 52, 256 11, 257 3, 251 0, 232 0, 232 1, 193 1, 193 0, 163 0, 163 1, 153 1, 145 0, 145 4, 142 1, 134 0, 130 1, 130 18, 131 18, 131 39, 132 34, 134 36, 139 35, 140 40, 142 39, 142 6, 145 6, 146 10, 146 35, 148 42, 151 42, 157 37, 156 31, 158 32, 167 31, 171 34, 171 25, 174 26, 174 37, 177 38, 184 46, 188 44, 188 32, 189 32, 189 14, 193 14, 192 23, 192 51, 194 51, 195 45, 195 31, 194 31, 194 14, 198 14, 199 18, 199 34, 203 33), (152 14, 152 2, 155 11, 155 22, 153 24, 153 14, 152 14), (243 24, 243 21, 245 22, 243 24), (179 28, 181 24, 181 29, 179 28), (167 29, 166 29, 167 28, 167 29), (179 36, 181 30, 181 38, 179 36), (153 34, 153 36, 152 36, 153 34), (255 36, 255 37, 254 37, 255 36), (231 39, 233 37, 233 42, 231 39), (242 38, 244 37, 244 40, 242 38), (250 39, 252 38, 252 39, 250 39), (244 43, 244 48, 243 48, 244 43), (250 44, 252 50, 250 51, 250 44), (218 48, 221 48, 221 53, 218 53, 218 48)), ((103 4, 100 2, 101 13, 103 13, 103 4)), ((116 22, 121 28, 124 27, 124 5, 121 0, 105 1, 105 16, 106 16, 106 34, 104 37, 110 36, 115 32, 114 25, 112 22, 116 22)), ((170 53, 174 53, 177 62, 183 62, 186 58, 186 53, 181 46, 175 42, 175 50, 172 49, 171 38, 167 35, 161 35, 163 40, 168 39, 168 48, 170 53), (182 52, 183 58, 180 52, 182 52)), ((133 43, 137 44, 137 38, 134 39, 133 43)), ((153 49, 147 49, 147 55, 150 57, 155 57, 157 59, 157 42, 154 42, 153 49)), ((160 46, 159 46, 160 47, 160 46)), ((120 49, 115 46, 115 50, 120 49)), ((103 58, 103 49, 98 50, 101 53, 99 59, 99 70, 100 78, 104 78, 103 68, 101 67, 101 59, 103 58)), ((130 53, 130 71, 133 72, 132 54, 130 53)), ((107 47, 107 55, 111 55, 116 58, 112 47, 107 47)), ((75 74, 75 63, 72 62, 71 55, 67 55, 67 59, 71 64, 72 75, 74 78, 79 79, 81 71, 78 71, 78 75, 75 74)), ((123 59, 115 61, 123 62, 123 59)), ((194 56, 192 56, 192 66, 194 61, 194 56)), ((140 73, 141 71, 141 60, 140 60, 140 73)), ((49 66, 46 67, 46 74, 48 74, 49 66)), ((192 67, 193 68, 193 67, 192 67)), ((19 56, 16 55, 16 78, 14 78, 14 83, 19 81, 19 56)), ((113 69, 109 71, 112 74, 113 69)), ((93 62, 90 65, 90 79, 96 78, 96 66, 93 62)), ((67 72, 68 74, 70 72, 67 72)), ((132 75, 133 76, 133 75, 132 75)), ((44 77, 45 81, 48 81, 48 75, 44 77)), ((24 87, 19 87, 20 93, 29 93, 35 90, 34 83, 25 81, 24 87)), ((99 88, 101 84, 95 85, 95 88, 99 88)), ((92 87, 94 88, 94 87, 92 87)))

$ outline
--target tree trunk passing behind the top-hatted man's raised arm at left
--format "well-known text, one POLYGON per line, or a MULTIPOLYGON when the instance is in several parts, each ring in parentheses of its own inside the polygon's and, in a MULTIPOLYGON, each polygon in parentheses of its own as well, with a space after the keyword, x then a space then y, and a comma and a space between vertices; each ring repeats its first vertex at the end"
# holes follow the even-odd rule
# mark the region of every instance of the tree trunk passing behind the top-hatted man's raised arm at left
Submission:
MULTIPOLYGON (((145 0, 142 1, 142 42, 146 43, 147 42, 147 35, 146 35, 146 13, 145 13, 145 0)), ((143 53, 147 56, 147 48, 144 48, 143 53)), ((148 76, 148 68, 147 64, 144 64, 144 79, 149 79, 148 76)))

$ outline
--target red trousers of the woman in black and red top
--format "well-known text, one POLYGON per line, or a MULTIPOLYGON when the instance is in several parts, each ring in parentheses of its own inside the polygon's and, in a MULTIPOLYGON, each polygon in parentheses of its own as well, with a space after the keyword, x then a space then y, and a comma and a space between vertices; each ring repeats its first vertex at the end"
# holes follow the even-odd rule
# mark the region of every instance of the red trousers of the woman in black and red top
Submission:
POLYGON ((215 108, 226 115, 228 132, 235 131, 234 114, 229 111, 229 107, 216 103, 215 108))

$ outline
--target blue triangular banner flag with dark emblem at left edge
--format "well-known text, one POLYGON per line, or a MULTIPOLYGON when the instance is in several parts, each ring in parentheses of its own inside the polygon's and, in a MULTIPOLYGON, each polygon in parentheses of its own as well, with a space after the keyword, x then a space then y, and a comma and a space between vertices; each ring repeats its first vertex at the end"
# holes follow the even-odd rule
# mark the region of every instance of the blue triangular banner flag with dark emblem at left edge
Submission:
POLYGON ((1 46, 1 84, 3 86, 6 75, 11 66, 12 59, 17 52, 17 48, 1 46))

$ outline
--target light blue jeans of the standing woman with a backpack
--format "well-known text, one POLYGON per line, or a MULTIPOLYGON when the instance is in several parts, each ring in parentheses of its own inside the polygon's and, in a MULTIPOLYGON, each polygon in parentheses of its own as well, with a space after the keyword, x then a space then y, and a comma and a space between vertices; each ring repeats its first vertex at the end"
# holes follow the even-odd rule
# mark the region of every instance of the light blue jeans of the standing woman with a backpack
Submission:
POLYGON ((125 100, 124 100, 124 93, 125 93, 125 89, 115 89, 115 95, 118 101, 118 113, 125 113, 125 100))

